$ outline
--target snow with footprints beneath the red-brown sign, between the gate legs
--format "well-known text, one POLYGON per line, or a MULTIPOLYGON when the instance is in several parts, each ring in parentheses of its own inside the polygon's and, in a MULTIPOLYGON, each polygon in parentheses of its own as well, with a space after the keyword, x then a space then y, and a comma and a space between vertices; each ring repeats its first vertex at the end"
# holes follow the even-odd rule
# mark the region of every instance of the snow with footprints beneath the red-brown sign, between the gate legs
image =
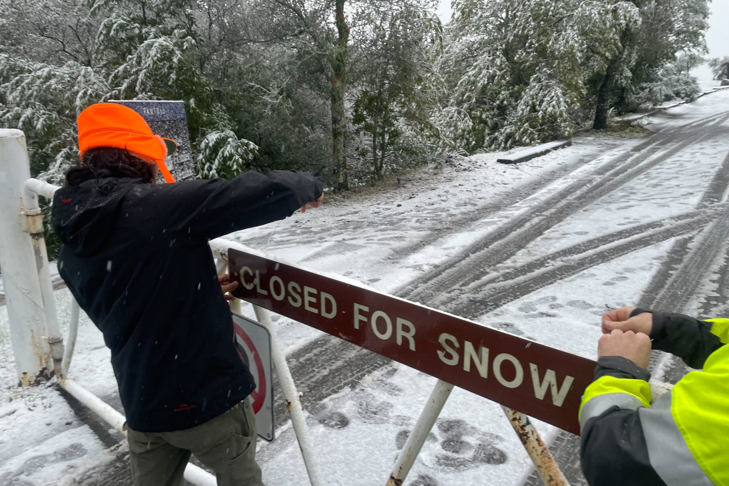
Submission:
MULTIPOLYGON (((321 469, 325 477, 332 478, 330 484, 386 482, 435 383, 433 377, 399 366, 386 379, 328 401, 327 412, 348 418, 343 428, 327 428, 315 421, 309 424, 321 469)), ((262 447, 259 460, 268 484, 305 483, 303 461, 290 432, 262 447)), ((426 476, 439 485, 512 485, 528 466, 529 458, 501 407, 455 388, 407 484, 426 476)))

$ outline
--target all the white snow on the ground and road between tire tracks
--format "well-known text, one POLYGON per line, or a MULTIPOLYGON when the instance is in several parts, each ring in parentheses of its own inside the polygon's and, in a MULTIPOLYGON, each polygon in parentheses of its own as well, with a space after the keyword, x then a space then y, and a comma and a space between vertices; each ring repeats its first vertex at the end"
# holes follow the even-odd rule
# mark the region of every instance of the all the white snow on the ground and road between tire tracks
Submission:
MULTIPOLYGON (((652 129, 669 129, 727 109, 729 90, 647 121, 652 129)), ((640 141, 639 137, 580 136, 572 147, 520 165, 497 164, 500 154, 494 153, 443 167, 431 165, 401 176, 392 189, 330 202, 228 238, 313 270, 394 291, 461 253, 497 225, 539 208, 548 195, 640 141), (515 188, 563 171, 565 176, 536 194, 517 195, 515 203, 498 207, 500 200, 514 195, 515 188)), ((558 224, 517 259, 533 259, 626 225, 690 211, 728 150, 727 141, 699 141, 558 224)), ((484 315, 481 321, 510 324, 535 340, 594 358, 599 315, 635 302, 670 246, 668 240, 592 267, 484 315)), ((67 326, 69 291, 57 291, 56 300, 60 321, 67 326)), ((243 305, 243 313, 252 316, 251 307, 243 305)), ((283 316, 274 318, 287 352, 321 334, 283 316)), ((55 388, 15 388, 5 307, 0 307, 0 363, 0 483, 12 477, 34 485, 71 484, 84 468, 109 460, 109 452, 77 422, 55 388), (41 463, 42 467, 34 466, 41 463), (55 479, 48 479, 51 477, 55 479)), ((118 407, 109 350, 83 313, 71 376, 118 407)), ((321 469, 330 484, 383 483, 398 445, 404 443, 433 385, 434 378, 395 366, 322 404, 309 423, 321 469), (332 417, 347 425, 332 427, 332 417)), ((547 437, 555 433, 546 424, 537 423, 537 427, 547 437)), ((276 442, 260 444, 259 458, 268 484, 306 484, 298 446, 285 424, 276 442)), ((514 485, 528 467, 526 453, 502 409, 456 389, 408 485, 418 477, 415 484, 419 485, 434 484, 431 479, 440 485, 514 485)))

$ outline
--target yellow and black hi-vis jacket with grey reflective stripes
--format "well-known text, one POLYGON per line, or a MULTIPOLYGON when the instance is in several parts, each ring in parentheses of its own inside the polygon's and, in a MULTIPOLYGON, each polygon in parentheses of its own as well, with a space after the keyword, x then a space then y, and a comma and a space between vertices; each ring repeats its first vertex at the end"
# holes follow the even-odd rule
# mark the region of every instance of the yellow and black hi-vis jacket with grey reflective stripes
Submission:
POLYGON ((651 402, 646 370, 600 358, 580 405, 585 477, 591 486, 729 486, 729 319, 652 314, 653 348, 697 370, 651 402))

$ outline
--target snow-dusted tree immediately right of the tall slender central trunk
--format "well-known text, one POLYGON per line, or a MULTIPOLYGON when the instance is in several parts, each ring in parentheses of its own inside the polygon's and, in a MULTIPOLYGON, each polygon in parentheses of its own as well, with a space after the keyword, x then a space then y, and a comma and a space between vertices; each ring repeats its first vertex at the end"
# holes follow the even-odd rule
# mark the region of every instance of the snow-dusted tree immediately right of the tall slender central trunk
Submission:
POLYGON ((371 12, 368 28, 354 36, 351 77, 352 122, 367 133, 359 153, 371 160, 375 178, 387 164, 400 166, 398 155, 417 152, 432 125, 429 111, 437 103, 440 75, 434 56, 443 46, 443 29, 433 1, 405 1, 371 12), (408 133, 419 138, 404 137, 408 133), (420 133, 420 136, 416 134, 420 133))

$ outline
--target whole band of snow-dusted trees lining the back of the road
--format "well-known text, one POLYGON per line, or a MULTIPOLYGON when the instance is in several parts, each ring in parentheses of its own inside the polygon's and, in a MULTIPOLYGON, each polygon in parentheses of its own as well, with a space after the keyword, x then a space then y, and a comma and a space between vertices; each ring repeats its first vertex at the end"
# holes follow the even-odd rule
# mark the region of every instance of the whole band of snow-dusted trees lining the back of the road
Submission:
POLYGON ((183 100, 198 176, 347 189, 692 98, 708 1, 0 0, 0 126, 58 182, 90 104, 183 100))

